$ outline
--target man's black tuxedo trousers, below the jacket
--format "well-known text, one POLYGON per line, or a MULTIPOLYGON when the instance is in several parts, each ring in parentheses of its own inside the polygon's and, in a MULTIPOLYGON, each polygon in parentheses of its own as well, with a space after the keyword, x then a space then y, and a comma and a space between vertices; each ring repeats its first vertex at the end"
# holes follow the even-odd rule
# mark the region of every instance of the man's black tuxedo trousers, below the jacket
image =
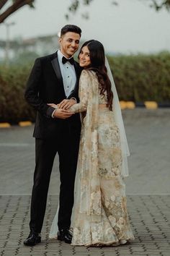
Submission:
POLYGON ((35 140, 35 174, 32 188, 30 230, 40 233, 50 183, 50 174, 56 153, 59 155, 61 179, 58 229, 69 229, 73 208, 73 190, 79 153, 80 129, 63 129, 53 139, 35 140))

